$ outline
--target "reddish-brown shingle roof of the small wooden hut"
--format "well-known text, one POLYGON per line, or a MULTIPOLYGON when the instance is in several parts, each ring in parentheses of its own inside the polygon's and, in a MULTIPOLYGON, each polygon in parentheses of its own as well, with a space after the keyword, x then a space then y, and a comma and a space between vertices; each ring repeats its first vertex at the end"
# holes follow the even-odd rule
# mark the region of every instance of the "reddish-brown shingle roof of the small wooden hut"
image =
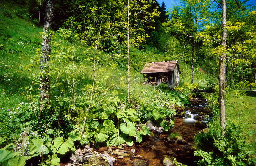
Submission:
POLYGON ((181 73, 177 60, 146 63, 145 66, 143 67, 141 73, 164 73, 164 72, 171 72, 171 71, 174 71, 174 68, 175 68, 176 65, 178 65, 179 73, 181 73))

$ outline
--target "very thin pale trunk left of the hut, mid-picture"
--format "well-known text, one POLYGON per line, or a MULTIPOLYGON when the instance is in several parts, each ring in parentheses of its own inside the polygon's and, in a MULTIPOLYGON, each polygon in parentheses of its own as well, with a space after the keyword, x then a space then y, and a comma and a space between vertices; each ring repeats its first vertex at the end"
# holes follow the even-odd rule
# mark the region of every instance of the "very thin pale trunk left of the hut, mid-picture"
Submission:
POLYGON ((130 13, 129 13, 129 0, 128 0, 128 25, 127 25, 127 69, 128 69, 128 76, 127 76, 127 100, 128 100, 128 104, 130 103, 130 39, 129 39, 129 35, 130 35, 130 25, 129 25, 129 21, 130 21, 130 13))

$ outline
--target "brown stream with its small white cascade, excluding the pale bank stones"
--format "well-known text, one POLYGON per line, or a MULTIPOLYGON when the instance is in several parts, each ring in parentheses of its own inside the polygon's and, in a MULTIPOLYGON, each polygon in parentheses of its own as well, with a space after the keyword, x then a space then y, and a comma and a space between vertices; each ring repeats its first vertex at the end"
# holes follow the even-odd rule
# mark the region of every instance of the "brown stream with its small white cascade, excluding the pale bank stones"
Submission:
MULTIPOLYGON (((121 148, 100 147, 94 149, 94 151, 97 153, 107 153, 106 151, 108 151, 109 156, 116 159, 113 162, 115 166, 132 166, 138 159, 142 160, 147 166, 163 166, 163 158, 166 156, 175 157, 177 162, 184 165, 196 166, 195 161, 198 158, 194 156, 192 144, 195 134, 204 129, 203 126, 196 125, 196 123, 202 123, 202 120, 208 120, 207 118, 211 116, 211 109, 207 108, 206 105, 207 101, 205 100, 191 99, 191 106, 176 111, 174 127, 168 131, 157 132, 156 130, 151 130, 150 136, 144 136, 142 142, 135 142, 132 147, 124 145, 121 148), (182 141, 168 139, 171 133, 180 135, 183 138, 182 141), (128 157, 115 156, 111 153, 115 149, 129 154, 127 155, 128 157), (132 153, 131 150, 135 151, 135 153, 132 153)), ((203 124, 206 127, 206 123, 203 124)))

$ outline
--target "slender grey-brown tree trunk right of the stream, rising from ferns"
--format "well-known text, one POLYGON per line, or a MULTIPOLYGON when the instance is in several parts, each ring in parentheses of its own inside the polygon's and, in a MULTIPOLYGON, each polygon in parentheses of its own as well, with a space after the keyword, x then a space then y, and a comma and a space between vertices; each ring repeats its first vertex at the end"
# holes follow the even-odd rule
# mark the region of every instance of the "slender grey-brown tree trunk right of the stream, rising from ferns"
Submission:
POLYGON ((223 129, 224 136, 224 125, 226 122, 225 115, 225 58, 226 58, 226 40, 227 40, 227 28, 226 28, 226 0, 221 0, 222 4, 222 38, 221 38, 221 46, 223 48, 222 54, 219 59, 219 109, 220 109, 220 126, 223 129))

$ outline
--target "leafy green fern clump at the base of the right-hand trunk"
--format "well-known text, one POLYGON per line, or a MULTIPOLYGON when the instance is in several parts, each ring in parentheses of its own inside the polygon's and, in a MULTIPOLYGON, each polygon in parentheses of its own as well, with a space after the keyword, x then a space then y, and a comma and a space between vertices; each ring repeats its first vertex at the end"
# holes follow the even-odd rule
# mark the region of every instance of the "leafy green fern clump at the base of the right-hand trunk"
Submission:
POLYGON ((195 156, 201 159, 198 165, 255 165, 253 153, 246 149, 246 137, 241 126, 231 124, 226 126, 225 136, 222 137, 218 121, 210 123, 207 132, 196 135, 195 156))

